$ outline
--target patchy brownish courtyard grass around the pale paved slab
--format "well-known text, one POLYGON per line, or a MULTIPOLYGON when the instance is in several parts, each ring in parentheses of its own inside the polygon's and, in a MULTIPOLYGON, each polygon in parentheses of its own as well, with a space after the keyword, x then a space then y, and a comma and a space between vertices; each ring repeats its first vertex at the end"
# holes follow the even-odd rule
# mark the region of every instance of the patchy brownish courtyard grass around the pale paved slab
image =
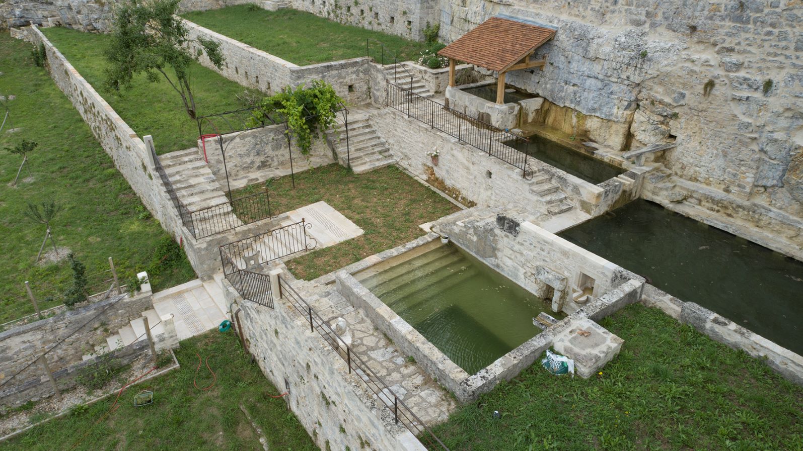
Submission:
MULTIPOLYGON (((458 210, 395 166, 358 175, 343 166, 328 165, 297 173, 296 189, 290 176, 269 181, 267 186, 274 213, 325 201, 365 230, 357 238, 287 262, 296 277, 308 280, 414 240, 424 234, 419 224, 458 210)), ((251 185, 235 197, 262 187, 251 185)))

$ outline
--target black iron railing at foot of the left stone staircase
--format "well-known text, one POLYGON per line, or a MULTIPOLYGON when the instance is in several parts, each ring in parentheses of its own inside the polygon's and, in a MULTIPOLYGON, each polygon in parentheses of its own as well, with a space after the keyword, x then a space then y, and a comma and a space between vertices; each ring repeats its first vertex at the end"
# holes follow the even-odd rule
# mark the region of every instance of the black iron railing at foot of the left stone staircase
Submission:
POLYGON ((271 217, 271 196, 267 189, 233 201, 212 205, 190 212, 192 232, 195 239, 236 229, 252 222, 271 217))

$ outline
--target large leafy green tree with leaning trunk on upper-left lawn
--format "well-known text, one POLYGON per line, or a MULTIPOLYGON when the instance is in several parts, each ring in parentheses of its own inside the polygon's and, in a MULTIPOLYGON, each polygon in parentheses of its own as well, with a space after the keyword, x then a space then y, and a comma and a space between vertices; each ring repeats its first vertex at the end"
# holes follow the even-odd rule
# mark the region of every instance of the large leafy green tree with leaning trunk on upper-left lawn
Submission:
POLYGON ((224 57, 220 43, 187 37, 184 23, 175 15, 177 8, 178 0, 124 0, 117 6, 106 84, 120 90, 130 86, 134 75, 143 73, 149 82, 157 82, 161 74, 181 95, 187 114, 195 119, 192 63, 206 53, 220 68, 224 57))

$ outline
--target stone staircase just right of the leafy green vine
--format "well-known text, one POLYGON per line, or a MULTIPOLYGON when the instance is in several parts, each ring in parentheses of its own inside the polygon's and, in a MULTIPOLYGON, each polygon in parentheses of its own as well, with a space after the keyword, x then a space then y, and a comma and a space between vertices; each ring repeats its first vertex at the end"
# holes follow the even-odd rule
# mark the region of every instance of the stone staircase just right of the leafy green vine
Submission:
POLYGON ((350 156, 351 167, 355 173, 367 173, 396 162, 385 140, 381 139, 371 126, 368 116, 349 117, 348 152, 343 123, 338 122, 334 128, 327 130, 326 135, 340 165, 348 166, 350 156))

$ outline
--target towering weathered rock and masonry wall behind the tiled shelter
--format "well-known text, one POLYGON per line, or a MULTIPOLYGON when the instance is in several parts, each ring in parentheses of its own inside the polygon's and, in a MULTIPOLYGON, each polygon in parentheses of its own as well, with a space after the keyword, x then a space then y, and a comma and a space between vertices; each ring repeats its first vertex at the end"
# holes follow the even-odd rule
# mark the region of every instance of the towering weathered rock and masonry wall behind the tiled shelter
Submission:
POLYGON ((632 148, 676 137, 664 163, 677 176, 803 216, 800 2, 440 6, 446 42, 499 13, 557 26, 538 51, 549 55, 544 71, 515 71, 508 83, 585 115, 591 136, 610 128, 600 142, 613 148, 626 144, 622 125, 632 148))

